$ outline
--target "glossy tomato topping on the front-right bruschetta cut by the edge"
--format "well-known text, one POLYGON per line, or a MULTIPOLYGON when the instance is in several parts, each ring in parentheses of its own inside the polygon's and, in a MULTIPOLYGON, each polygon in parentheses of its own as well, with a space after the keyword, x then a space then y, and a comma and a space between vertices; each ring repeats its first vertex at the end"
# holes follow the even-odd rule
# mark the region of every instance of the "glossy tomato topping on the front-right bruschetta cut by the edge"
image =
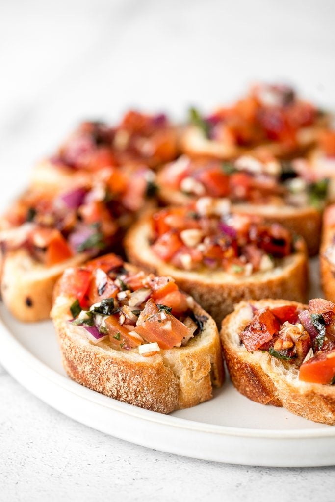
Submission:
POLYGON ((295 305, 258 310, 240 338, 249 352, 267 351, 298 366, 302 382, 335 383, 335 305, 327 300, 310 300, 306 310, 295 305))

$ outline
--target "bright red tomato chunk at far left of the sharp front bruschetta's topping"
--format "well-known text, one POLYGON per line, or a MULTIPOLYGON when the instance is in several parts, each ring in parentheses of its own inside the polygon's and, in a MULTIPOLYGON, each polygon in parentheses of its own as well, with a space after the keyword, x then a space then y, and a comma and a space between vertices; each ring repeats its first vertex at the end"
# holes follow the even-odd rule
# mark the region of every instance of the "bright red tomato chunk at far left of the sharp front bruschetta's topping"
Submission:
POLYGON ((61 276, 58 287, 60 294, 79 300, 81 307, 87 306, 84 298, 91 280, 91 272, 81 268, 68 268, 61 276))

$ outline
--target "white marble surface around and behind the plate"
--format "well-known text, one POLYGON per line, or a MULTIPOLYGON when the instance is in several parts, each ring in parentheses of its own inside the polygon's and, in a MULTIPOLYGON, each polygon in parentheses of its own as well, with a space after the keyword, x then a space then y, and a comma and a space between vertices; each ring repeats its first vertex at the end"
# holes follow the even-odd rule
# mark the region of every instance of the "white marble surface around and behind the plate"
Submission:
MULTIPOLYGON (((181 116, 257 78, 335 108, 332 0, 0 2, 0 206, 84 117, 133 104, 181 116)), ((215 464, 73 422, 0 366, 0 499, 334 499, 334 469, 215 464)))

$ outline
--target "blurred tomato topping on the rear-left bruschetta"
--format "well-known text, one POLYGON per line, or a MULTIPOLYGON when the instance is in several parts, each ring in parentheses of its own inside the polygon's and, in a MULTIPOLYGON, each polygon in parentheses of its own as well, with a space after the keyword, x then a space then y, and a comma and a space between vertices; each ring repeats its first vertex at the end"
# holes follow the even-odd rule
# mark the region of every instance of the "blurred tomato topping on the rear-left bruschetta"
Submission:
POLYGON ((52 157, 54 164, 97 171, 126 163, 155 167, 177 155, 176 132, 163 113, 131 110, 120 124, 83 122, 52 157))

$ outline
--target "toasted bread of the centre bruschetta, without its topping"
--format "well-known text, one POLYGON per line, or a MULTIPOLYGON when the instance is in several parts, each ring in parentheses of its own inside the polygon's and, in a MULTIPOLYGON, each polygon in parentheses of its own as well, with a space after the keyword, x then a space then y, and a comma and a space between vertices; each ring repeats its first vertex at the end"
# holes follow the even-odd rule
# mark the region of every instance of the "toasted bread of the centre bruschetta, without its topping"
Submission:
POLYGON ((305 300, 308 271, 304 252, 281 259, 280 267, 271 271, 237 277, 223 271, 185 271, 169 265, 150 248, 150 235, 150 216, 131 227, 125 238, 128 259, 148 271, 173 277, 178 286, 191 294, 218 324, 232 312, 235 303, 243 299, 271 296, 305 300))

